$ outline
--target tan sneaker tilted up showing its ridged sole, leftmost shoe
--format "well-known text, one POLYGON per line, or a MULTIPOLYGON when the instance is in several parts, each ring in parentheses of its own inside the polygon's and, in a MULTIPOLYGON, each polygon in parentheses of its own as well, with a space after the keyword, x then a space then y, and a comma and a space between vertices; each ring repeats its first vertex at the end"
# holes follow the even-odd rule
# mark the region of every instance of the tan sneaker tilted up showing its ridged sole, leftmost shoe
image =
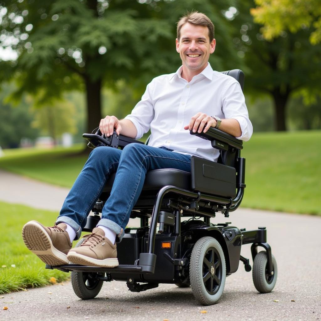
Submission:
POLYGON ((45 227, 37 221, 30 221, 22 228, 22 239, 31 252, 49 265, 69 264, 67 253, 72 247, 67 225, 45 227))

